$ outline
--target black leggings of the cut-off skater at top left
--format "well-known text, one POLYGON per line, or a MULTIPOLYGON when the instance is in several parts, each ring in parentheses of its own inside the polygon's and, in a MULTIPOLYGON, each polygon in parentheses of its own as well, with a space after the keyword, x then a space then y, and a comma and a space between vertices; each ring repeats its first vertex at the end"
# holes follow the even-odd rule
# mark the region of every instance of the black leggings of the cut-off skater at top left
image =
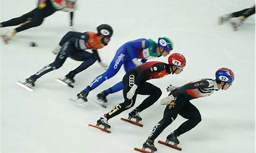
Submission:
POLYGON ((46 1, 46 6, 44 8, 35 8, 34 10, 16 18, 12 18, 8 21, 2 22, 2 27, 9 27, 13 25, 20 25, 15 30, 16 32, 24 31, 32 27, 37 27, 41 25, 44 18, 52 15, 57 10, 53 8, 51 0, 46 1))

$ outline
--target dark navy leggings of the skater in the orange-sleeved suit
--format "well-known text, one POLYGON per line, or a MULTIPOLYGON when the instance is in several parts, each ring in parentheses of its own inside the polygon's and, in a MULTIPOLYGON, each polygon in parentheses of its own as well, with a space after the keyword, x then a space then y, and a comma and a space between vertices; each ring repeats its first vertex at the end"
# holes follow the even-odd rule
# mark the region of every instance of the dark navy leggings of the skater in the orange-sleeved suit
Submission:
POLYGON ((91 66, 95 61, 97 60, 97 57, 89 52, 86 52, 84 50, 77 50, 75 48, 75 38, 69 39, 61 48, 60 52, 56 56, 55 60, 48 64, 47 66, 43 67, 41 70, 36 72, 33 75, 33 78, 38 79, 42 75, 60 68, 63 63, 66 61, 68 57, 76 60, 76 61, 83 61, 76 69, 72 70, 74 74, 77 74, 85 69, 87 69, 89 66, 91 66))

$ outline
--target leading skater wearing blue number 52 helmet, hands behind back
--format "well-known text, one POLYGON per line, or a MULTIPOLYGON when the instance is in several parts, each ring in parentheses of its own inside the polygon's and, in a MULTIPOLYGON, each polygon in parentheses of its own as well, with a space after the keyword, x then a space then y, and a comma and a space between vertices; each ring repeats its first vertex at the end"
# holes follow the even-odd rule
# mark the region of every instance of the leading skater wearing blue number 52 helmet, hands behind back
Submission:
POLYGON ((233 80, 234 74, 230 69, 220 68, 216 71, 215 80, 201 79, 178 88, 173 86, 167 87, 167 91, 170 91, 170 93, 167 97, 161 99, 160 102, 161 105, 167 105, 163 118, 154 126, 152 133, 143 144, 143 148, 157 150, 154 146, 154 140, 176 119, 178 114, 186 118, 187 121, 170 133, 166 137, 166 142, 171 141, 175 145, 179 144, 178 136, 193 129, 201 121, 199 110, 189 100, 209 96, 219 89, 227 90, 233 80))

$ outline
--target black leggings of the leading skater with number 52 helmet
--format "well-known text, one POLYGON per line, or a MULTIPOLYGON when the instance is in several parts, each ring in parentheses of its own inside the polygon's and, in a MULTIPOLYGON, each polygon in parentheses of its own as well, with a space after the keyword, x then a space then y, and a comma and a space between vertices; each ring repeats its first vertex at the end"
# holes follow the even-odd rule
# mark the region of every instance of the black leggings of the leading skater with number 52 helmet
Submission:
POLYGON ((177 136, 193 129, 201 121, 201 115, 198 109, 184 96, 180 95, 176 98, 174 103, 166 106, 163 118, 154 126, 149 138, 155 140, 160 133, 176 119, 178 114, 188 120, 175 130, 177 136))

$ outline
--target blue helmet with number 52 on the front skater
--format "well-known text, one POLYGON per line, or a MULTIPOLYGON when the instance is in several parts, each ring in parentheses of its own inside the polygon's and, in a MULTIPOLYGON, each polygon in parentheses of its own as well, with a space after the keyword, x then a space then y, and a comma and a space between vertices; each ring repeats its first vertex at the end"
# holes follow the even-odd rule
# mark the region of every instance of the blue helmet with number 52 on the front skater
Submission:
POLYGON ((234 81, 234 73, 225 67, 219 68, 215 73, 215 77, 220 82, 232 83, 234 81))

